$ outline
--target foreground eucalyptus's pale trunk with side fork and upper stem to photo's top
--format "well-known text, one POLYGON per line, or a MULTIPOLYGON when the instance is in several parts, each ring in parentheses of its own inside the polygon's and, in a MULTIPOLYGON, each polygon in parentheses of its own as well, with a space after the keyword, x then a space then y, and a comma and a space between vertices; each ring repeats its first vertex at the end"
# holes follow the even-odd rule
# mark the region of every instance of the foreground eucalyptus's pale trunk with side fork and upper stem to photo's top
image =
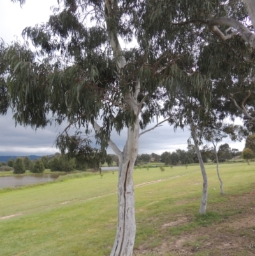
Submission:
MULTIPOLYGON (((120 77, 122 69, 126 66, 127 61, 122 55, 122 49, 119 43, 117 29, 113 26, 115 11, 118 8, 117 0, 105 0, 105 20, 108 30, 108 39, 112 47, 113 56, 116 61, 118 75, 120 77)), ((132 91, 130 89, 130 91, 132 91)), ((117 234, 113 244, 110 256, 131 256, 135 243, 136 222, 135 222, 135 193, 133 184, 133 167, 138 154, 139 141, 139 112, 140 106, 137 102, 137 96, 140 92, 140 81, 136 82, 135 93, 123 94, 124 105, 136 115, 135 124, 128 126, 128 139, 124 150, 121 152, 117 146, 110 140, 109 146, 112 147, 119 158, 119 180, 118 180, 118 197, 119 197, 119 217, 117 225, 117 234)))

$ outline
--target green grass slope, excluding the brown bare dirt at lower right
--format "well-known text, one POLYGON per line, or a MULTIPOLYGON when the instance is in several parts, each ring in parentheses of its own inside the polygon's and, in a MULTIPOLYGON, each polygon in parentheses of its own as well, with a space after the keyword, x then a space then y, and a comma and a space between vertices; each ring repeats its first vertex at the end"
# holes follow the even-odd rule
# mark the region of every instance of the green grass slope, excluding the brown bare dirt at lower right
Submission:
MULTIPOLYGON (((208 165, 209 214, 203 218, 197 215, 202 189, 198 166, 165 168, 164 172, 159 168, 136 169, 135 249, 143 246, 150 250, 163 240, 237 215, 237 207, 230 205, 222 211, 219 206, 233 195, 254 189, 254 164, 220 168, 227 195, 220 195, 215 165, 208 165), (189 221, 162 228, 180 216, 189 221)), ((0 218, 20 214, 0 219, 0 255, 109 255, 117 224, 116 188, 117 172, 108 172, 103 177, 89 176, 0 193, 0 218)))

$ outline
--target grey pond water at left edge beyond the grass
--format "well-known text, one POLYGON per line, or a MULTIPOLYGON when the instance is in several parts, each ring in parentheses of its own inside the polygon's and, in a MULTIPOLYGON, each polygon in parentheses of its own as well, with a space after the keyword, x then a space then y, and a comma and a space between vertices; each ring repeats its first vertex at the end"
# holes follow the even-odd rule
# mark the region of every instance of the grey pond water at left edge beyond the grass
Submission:
POLYGON ((64 174, 36 174, 36 175, 17 175, 0 177, 0 189, 9 188, 11 186, 25 186, 28 184, 44 183, 54 181, 57 177, 64 174))

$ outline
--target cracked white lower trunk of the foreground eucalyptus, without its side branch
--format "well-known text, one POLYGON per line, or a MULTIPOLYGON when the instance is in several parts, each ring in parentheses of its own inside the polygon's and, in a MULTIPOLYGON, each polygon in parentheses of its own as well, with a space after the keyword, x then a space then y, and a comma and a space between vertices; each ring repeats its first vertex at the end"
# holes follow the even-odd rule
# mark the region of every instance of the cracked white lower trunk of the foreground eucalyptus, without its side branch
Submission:
POLYGON ((119 218, 117 234, 110 256, 131 256, 135 243, 135 193, 133 167, 138 154, 139 123, 128 129, 128 140, 119 159, 119 218))

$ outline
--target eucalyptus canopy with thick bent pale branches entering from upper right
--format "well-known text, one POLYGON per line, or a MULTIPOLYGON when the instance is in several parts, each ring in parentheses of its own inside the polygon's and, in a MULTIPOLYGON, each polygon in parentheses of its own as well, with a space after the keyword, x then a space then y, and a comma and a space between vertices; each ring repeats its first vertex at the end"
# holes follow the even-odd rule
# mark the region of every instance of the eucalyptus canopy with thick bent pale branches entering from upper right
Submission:
POLYGON ((255 2, 251 0, 163 0, 154 4, 154 26, 168 34, 174 29, 183 31, 186 45, 199 58, 194 70, 214 81, 212 101, 221 111, 221 118, 228 112, 255 121, 254 8, 255 2), (173 19, 168 19, 163 6, 170 13, 176 8, 173 19), (195 44, 191 43, 194 38, 195 44))

